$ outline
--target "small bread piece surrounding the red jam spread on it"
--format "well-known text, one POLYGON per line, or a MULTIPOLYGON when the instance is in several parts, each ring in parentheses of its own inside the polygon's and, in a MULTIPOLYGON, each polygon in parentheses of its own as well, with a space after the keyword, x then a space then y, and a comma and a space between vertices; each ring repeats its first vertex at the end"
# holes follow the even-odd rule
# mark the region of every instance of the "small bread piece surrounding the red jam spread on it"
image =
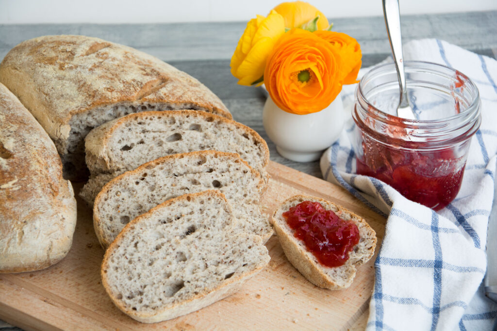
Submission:
POLYGON ((363 218, 325 199, 308 196, 287 199, 274 211, 271 224, 290 263, 314 285, 332 290, 349 287, 354 279, 356 266, 371 259, 376 247, 376 232, 363 218), (320 202, 325 209, 332 210, 341 219, 351 220, 357 225, 359 243, 349 253, 349 259, 344 265, 327 267, 320 264, 306 249, 305 243, 294 237, 294 230, 288 226, 283 213, 303 201, 320 202))

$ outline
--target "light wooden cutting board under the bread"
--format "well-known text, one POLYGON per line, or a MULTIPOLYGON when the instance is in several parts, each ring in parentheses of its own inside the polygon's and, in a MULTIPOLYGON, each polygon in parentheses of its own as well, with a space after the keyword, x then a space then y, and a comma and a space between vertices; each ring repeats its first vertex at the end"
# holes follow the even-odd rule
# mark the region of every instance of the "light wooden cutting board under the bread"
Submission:
MULTIPOLYGON (((364 217, 376 230, 379 249, 385 219, 344 189, 270 162, 262 210, 307 194, 329 199, 364 217)), ((81 184, 75 185, 79 192, 81 184)), ((78 199, 78 223, 69 255, 47 269, 0 275, 0 319, 26 330, 363 330, 373 290, 373 257, 358 267, 352 285, 330 291, 308 282, 286 259, 273 236, 271 261, 242 290, 194 313, 156 324, 141 324, 121 313, 100 280, 104 251, 93 232, 91 210, 78 199)))

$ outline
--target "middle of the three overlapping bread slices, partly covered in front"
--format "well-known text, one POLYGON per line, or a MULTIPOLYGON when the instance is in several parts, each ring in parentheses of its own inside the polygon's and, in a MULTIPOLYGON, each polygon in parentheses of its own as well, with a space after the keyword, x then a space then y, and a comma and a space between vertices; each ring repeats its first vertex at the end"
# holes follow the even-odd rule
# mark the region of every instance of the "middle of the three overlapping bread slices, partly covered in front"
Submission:
POLYGON ((240 155, 197 151, 165 156, 107 183, 95 199, 93 224, 107 247, 127 222, 161 202, 186 193, 218 189, 232 203, 248 233, 265 242, 273 230, 259 209, 263 181, 240 155))

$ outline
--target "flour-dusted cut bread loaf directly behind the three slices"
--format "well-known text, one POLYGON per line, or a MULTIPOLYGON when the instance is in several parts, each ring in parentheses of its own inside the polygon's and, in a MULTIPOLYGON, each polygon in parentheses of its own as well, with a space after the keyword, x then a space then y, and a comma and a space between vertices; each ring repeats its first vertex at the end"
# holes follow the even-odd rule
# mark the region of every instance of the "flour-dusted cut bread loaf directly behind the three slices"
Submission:
POLYGON ((190 75, 130 47, 85 36, 44 36, 14 47, 0 64, 9 88, 54 140, 65 176, 84 179, 84 136, 144 110, 231 114, 190 75))

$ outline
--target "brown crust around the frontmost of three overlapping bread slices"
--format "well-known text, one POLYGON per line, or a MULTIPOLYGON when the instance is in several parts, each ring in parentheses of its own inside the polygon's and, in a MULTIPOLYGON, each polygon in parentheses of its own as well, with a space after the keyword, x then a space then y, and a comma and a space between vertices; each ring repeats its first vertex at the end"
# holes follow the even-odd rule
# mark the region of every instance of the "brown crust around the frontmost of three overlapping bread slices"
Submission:
MULTIPOLYGON (((206 288, 203 291, 199 291, 193 297, 184 301, 177 302, 171 306, 165 307, 163 308, 162 311, 156 312, 155 314, 147 314, 144 312, 137 312, 126 309, 123 302, 117 299, 116 296, 112 293, 112 290, 110 289, 110 285, 108 283, 106 276, 106 270, 108 269, 109 259, 113 254, 113 252, 115 251, 116 247, 118 247, 118 245, 120 244, 121 238, 125 237, 127 233, 134 227, 135 224, 139 224, 142 219, 148 218, 150 215, 152 215, 155 212, 155 210, 168 207, 171 204, 175 204, 180 201, 190 201, 190 199, 199 196, 211 196, 211 197, 216 197, 218 199, 223 199, 228 204, 229 209, 231 210, 231 206, 229 205, 229 202, 226 200, 224 195, 216 190, 207 190, 199 193, 185 194, 177 198, 169 199, 159 204, 158 206, 152 208, 150 211, 146 212, 145 214, 142 214, 136 217, 135 219, 133 219, 132 221, 130 221, 124 227, 124 229, 117 235, 116 239, 110 244, 108 249, 105 251, 105 255, 103 257, 100 269, 102 285, 105 288, 109 297, 111 298, 112 302, 114 302, 114 304, 117 306, 117 308, 119 308, 123 313, 129 315, 133 319, 142 323, 156 323, 156 322, 169 320, 178 316, 182 316, 194 312, 196 310, 199 310, 201 308, 204 308, 206 306, 209 306, 214 302, 217 302, 229 295, 236 293, 245 281, 256 275, 260 270, 264 268, 265 265, 269 263, 269 255, 267 255, 265 261, 262 264, 257 265, 257 267, 254 268, 253 270, 240 274, 237 273, 231 278, 224 280, 222 284, 219 284, 215 288, 206 288)), ((254 245, 262 245, 262 240, 259 236, 253 235, 253 238, 254 238, 254 245)))

